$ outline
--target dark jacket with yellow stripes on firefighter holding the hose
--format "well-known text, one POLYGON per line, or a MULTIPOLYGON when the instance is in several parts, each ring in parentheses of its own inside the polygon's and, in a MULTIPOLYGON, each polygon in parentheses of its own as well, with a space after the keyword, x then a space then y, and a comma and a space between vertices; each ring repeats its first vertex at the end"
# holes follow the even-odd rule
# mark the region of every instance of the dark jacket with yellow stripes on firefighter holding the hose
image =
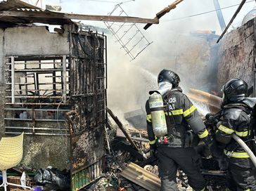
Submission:
POLYGON ((243 103, 225 105, 217 124, 215 138, 225 145, 224 154, 234 158, 249 158, 249 155, 231 138, 236 133, 249 147, 252 133, 250 132, 250 107, 243 103))

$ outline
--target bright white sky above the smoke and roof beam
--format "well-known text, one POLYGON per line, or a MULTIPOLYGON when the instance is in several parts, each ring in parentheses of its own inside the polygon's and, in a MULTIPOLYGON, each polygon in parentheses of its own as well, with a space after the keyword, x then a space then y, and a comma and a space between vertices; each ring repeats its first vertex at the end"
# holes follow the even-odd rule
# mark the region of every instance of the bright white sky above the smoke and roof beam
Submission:
MULTIPOLYGON (((30 4, 36 4, 38 0, 23 0, 30 4)), ((60 5, 62 12, 66 13, 81 13, 81 14, 92 14, 92 15, 107 15, 113 10, 115 4, 123 2, 122 8, 126 11, 129 16, 136 16, 141 18, 154 18, 155 14, 158 13, 162 8, 165 8, 173 1, 170 0, 134 0, 134 1, 121 1, 121 0, 39 0, 37 6, 45 7, 46 4, 60 5)), ((219 5, 224 15, 226 25, 231 19, 233 13, 236 11, 241 0, 219 0, 219 5), (233 6, 231 8, 225 8, 233 6)), ((243 17, 255 8, 256 3, 252 0, 247 0, 247 3, 243 6, 241 12, 238 14, 236 20, 233 21, 231 29, 241 25, 243 17)), ((167 26, 176 27, 182 23, 188 25, 190 30, 210 29, 216 31, 217 34, 221 33, 221 29, 218 24, 217 15, 215 12, 198 15, 191 18, 184 18, 189 15, 198 13, 205 13, 207 11, 215 10, 215 6, 212 0, 184 0, 177 8, 167 13, 160 19, 160 24, 154 27, 165 28, 167 26), (176 18, 183 18, 174 20, 176 18)), ((83 21, 88 25, 95 25, 98 27, 105 27, 103 22, 95 21, 83 21)), ((143 24, 139 24, 143 27, 143 24)))

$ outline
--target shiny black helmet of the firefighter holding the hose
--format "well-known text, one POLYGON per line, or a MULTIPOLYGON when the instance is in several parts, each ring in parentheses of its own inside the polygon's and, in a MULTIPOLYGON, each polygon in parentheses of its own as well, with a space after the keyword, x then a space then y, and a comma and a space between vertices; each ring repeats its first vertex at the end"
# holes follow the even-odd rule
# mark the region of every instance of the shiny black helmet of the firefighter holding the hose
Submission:
POLYGON ((242 79, 230 79, 222 87, 222 92, 222 104, 239 102, 248 96, 248 84, 242 79))

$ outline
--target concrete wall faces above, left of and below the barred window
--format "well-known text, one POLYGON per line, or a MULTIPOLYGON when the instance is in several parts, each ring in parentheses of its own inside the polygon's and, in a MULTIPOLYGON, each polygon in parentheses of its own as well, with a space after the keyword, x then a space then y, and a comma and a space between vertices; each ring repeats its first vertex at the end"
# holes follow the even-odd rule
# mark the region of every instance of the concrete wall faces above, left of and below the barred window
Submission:
MULTIPOLYGON (((13 27, 0 29, 0 133, 4 131, 4 62, 11 55, 69 55, 68 31, 50 33, 46 27, 13 27)), ((41 124, 56 127, 57 123, 41 124)), ((64 125, 64 124, 63 124, 64 125)), ((2 133, 3 134, 3 133, 2 133)), ((51 165, 70 168, 70 139, 65 136, 25 135, 22 166, 32 169, 51 165)))

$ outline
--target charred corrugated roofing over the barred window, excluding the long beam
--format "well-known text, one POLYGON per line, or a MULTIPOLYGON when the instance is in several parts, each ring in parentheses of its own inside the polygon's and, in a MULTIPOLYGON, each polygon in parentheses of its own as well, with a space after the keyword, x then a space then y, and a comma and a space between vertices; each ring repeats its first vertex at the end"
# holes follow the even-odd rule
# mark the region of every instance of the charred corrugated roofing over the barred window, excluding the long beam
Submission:
MULTIPOLYGON (((21 11, 21 12, 32 12, 32 13, 55 13, 52 11, 43 10, 37 6, 27 4, 19 0, 7 0, 0 2, 0 11, 21 11)), ((62 14, 62 13, 59 13, 62 14)), ((0 28, 12 27, 15 25, 25 25, 33 22, 41 22, 50 25, 63 25, 72 22, 70 19, 65 18, 23 18, 13 16, 1 16, 0 17, 0 28)))

